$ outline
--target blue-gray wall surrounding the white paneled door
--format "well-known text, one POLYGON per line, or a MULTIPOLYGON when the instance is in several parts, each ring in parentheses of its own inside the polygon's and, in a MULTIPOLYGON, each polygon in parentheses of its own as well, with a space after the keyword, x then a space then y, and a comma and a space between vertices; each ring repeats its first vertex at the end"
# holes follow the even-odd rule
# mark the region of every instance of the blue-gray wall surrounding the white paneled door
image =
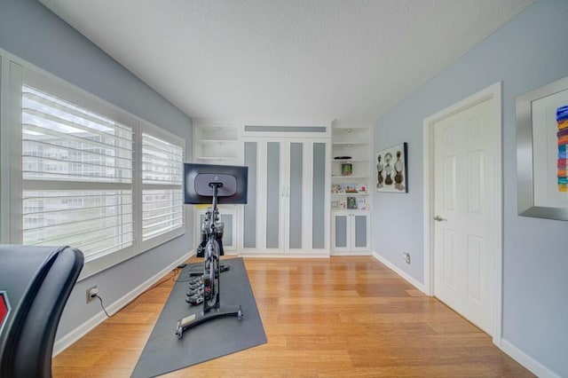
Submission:
POLYGON ((537 0, 375 122, 375 151, 408 143, 409 193, 375 193, 372 232, 375 252, 423 283, 422 121, 501 81, 503 340, 560 376, 568 376, 568 222, 517 216, 515 99, 568 75, 566 20, 568 1, 537 0))

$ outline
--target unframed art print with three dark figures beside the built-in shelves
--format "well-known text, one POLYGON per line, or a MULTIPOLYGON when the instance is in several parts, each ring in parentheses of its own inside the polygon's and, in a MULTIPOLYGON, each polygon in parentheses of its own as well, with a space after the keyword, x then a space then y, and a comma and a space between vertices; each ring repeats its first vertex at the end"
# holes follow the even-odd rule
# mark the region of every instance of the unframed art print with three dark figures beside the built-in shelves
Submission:
POLYGON ((406 142, 375 154, 376 191, 408 193, 406 142))

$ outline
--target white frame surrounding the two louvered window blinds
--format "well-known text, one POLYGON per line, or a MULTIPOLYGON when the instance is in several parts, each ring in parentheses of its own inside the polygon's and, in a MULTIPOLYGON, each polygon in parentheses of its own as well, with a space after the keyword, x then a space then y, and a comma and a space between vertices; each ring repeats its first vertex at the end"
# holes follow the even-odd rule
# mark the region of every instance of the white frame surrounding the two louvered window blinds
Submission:
MULTIPOLYGON (((21 244, 23 238, 24 190, 22 177, 22 85, 28 84, 46 93, 66 99, 97 114, 101 114, 131 127, 133 133, 132 202, 134 227, 132 245, 105 255, 89 256, 85 259, 79 280, 105 271, 133 256, 138 256, 151 248, 184 235, 187 228, 185 209, 182 206, 183 220, 180 227, 165 232, 149 240, 142 241, 142 133, 163 138, 182 148, 182 164, 187 159, 185 138, 147 122, 118 106, 99 98, 72 83, 51 75, 0 49, 0 242, 21 244), (5 163, 4 163, 5 162, 5 163)), ((188 132, 191 132, 188 130, 188 132)))

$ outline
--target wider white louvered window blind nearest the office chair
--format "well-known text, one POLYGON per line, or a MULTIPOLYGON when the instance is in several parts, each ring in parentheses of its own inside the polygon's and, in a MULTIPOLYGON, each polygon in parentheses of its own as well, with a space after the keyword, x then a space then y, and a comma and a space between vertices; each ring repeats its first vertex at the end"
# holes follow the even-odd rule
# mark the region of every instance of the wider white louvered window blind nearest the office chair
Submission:
POLYGON ((23 243, 86 257, 132 245, 132 129, 22 86, 23 243))

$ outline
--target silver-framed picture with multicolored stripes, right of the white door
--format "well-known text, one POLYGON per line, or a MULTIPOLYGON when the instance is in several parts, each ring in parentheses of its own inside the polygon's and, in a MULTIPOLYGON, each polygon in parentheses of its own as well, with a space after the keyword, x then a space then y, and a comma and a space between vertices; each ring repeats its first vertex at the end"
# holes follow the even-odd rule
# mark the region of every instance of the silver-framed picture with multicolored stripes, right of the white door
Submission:
POLYGON ((568 220, 566 106, 568 76, 517 97, 519 216, 568 220))

